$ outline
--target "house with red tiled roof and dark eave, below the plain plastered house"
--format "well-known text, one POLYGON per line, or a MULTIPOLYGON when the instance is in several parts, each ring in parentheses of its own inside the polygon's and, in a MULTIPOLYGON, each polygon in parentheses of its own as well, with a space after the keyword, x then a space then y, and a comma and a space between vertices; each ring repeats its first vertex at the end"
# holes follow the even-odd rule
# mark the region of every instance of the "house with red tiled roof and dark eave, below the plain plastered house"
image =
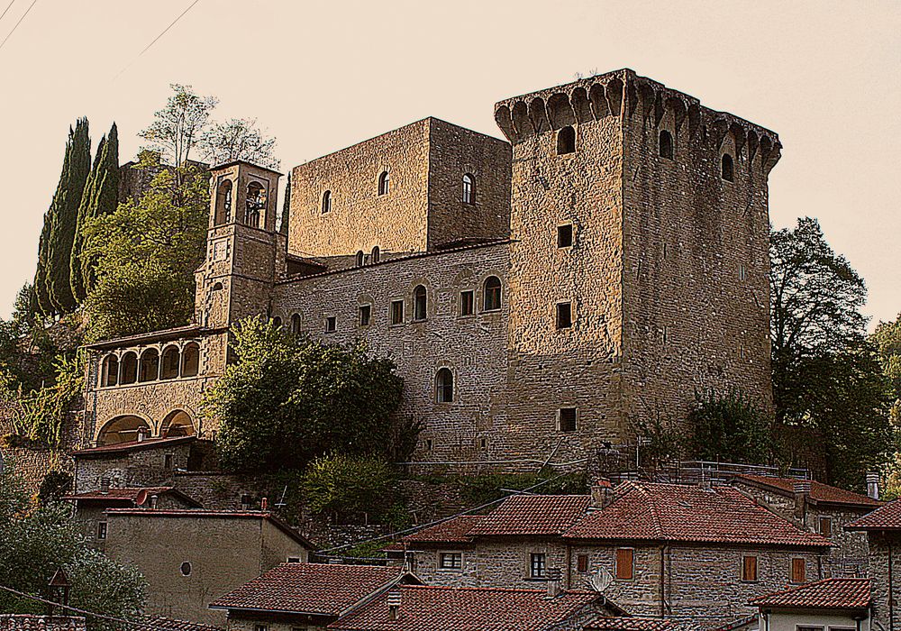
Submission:
POLYGON ((284 563, 215 599, 229 631, 323 629, 399 584, 420 583, 400 568, 284 563))

